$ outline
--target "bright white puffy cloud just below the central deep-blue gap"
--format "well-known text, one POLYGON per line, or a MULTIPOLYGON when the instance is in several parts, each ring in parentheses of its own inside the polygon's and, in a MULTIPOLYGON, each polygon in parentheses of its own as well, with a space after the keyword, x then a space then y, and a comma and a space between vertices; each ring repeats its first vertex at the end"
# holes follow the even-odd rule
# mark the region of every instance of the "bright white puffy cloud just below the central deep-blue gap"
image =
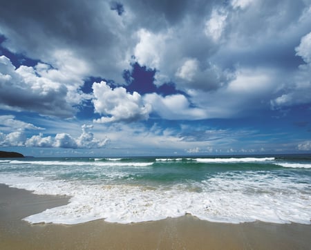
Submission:
POLYGON ((151 106, 143 104, 142 97, 135 91, 131 94, 122 87, 112 89, 101 81, 93 84, 93 92, 95 112, 109 115, 95 122, 135 122, 149 117, 151 106))

